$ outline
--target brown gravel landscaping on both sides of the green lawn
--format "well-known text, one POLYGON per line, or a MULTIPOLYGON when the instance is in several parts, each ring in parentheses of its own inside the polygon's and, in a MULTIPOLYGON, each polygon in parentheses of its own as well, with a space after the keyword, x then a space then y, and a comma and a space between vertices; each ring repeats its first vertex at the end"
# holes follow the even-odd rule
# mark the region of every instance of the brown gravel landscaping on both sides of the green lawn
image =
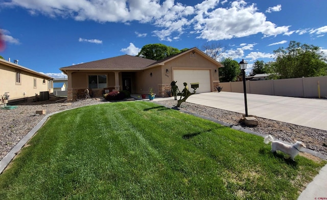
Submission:
MULTIPOLYGON (((15 105, 18 106, 15 109, 0 109, 0 160, 3 159, 19 142, 19 140, 28 134, 45 116, 35 114, 36 111, 45 110, 46 114, 50 114, 66 109, 104 103, 108 102, 99 98, 83 99, 81 101, 69 103, 62 101, 39 101, 32 103, 19 103, 15 105)), ((177 101, 174 100, 164 100, 157 103, 170 108, 177 105, 177 101)), ((240 113, 191 104, 188 102, 182 103, 180 110, 196 113, 234 126, 242 127, 242 124, 239 123, 239 119, 242 117, 242 114, 240 113)), ((299 140, 304 142, 307 145, 307 148, 323 155, 327 155, 327 131, 260 117, 258 118, 258 121, 259 126, 257 127, 243 128, 264 135, 270 134, 275 139, 291 143, 293 143, 294 140, 299 140)))

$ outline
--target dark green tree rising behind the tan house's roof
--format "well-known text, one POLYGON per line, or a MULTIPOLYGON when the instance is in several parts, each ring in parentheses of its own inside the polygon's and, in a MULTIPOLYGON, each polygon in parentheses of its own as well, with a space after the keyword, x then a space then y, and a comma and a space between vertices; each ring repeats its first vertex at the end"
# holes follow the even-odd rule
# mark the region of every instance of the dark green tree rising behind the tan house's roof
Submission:
POLYGON ((162 60, 179 53, 180 51, 177 48, 166 46, 165 44, 147 44, 142 47, 137 56, 152 60, 162 60))

